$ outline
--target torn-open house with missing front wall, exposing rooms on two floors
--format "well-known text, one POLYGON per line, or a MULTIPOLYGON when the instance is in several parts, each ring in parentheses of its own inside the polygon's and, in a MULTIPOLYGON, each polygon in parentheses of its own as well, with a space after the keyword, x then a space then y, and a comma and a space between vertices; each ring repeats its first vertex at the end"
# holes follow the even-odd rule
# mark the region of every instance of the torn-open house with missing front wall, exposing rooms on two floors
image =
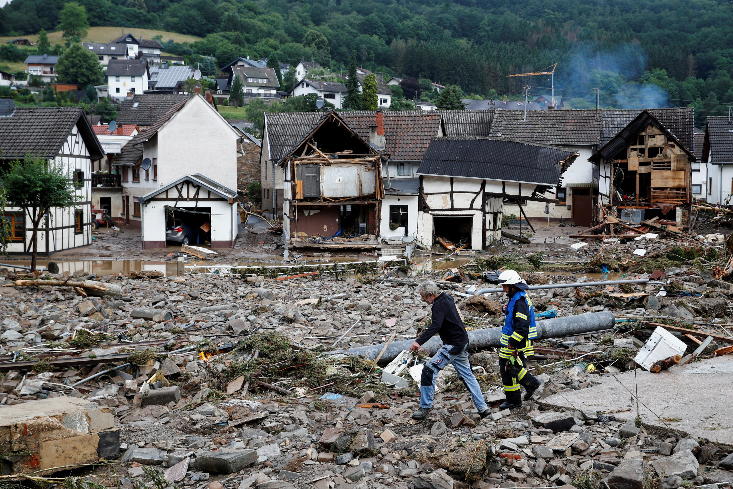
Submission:
POLYGON ((375 249, 384 198, 382 164, 374 147, 328 111, 279 163, 284 235, 292 246, 375 249), (333 239, 323 243, 321 237, 333 239))

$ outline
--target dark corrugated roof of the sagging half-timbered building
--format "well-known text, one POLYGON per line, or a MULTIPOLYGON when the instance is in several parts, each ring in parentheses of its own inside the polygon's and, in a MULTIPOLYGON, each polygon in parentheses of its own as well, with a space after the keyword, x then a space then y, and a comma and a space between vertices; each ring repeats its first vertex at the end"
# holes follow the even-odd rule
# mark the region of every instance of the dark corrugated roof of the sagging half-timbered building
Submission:
POLYGON ((435 138, 418 173, 443 177, 557 185, 560 161, 574 152, 501 138, 435 138))

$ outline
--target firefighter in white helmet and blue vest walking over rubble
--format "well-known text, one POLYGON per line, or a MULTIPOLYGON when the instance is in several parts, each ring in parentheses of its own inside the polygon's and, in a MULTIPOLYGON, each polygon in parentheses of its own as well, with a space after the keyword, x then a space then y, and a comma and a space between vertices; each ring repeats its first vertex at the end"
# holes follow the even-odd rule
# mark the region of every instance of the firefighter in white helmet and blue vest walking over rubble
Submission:
POLYGON ((534 307, 527 296, 527 282, 513 270, 501 272, 498 284, 509 295, 509 303, 504 304, 504 328, 501 328, 501 348, 499 349, 499 372, 507 400, 500 409, 518 408, 522 405, 520 386, 524 386, 524 400, 531 399, 540 386, 526 369, 528 356, 534 355, 532 340, 537 338, 537 325, 534 323, 534 307))

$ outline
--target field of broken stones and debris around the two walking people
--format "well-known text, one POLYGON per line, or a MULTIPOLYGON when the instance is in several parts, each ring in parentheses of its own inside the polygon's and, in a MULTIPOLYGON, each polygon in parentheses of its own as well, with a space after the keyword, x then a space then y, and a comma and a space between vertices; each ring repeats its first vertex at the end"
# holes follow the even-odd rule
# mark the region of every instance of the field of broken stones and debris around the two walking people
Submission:
MULTIPOLYGON (((634 359, 657 328, 684 343, 682 361, 690 363, 659 374, 644 370, 650 382, 674 382, 667 375, 674 369, 703 366, 715 356, 714 364, 724 367, 715 389, 729 390, 733 283, 726 279, 730 251, 721 236, 601 240, 578 251, 556 243, 545 251, 508 247, 456 260, 454 268, 455 257, 443 257, 433 268, 444 270, 436 271, 399 261, 365 263, 356 273, 336 264, 320 273, 293 265, 257 275, 235 268, 167 277, 0 268, 0 485, 677 489, 731 483, 733 446, 716 430, 703 438, 675 427, 682 416, 684 426, 703 422, 695 409, 677 412, 669 399, 663 422, 652 423, 655 408, 644 411, 646 399, 633 389, 614 391, 625 396, 616 408, 597 408, 617 375, 633 386, 628 378, 641 368, 634 359), (633 254, 636 249, 645 256, 633 254), (492 272, 502 268, 517 269, 531 285, 577 284, 530 291, 538 320, 610 311, 615 326, 537 341, 530 367, 542 387, 512 411, 498 409, 504 391, 496 351, 479 349, 471 362, 493 413, 481 419, 463 383, 446 369, 435 409, 414 421, 419 384, 408 371, 399 383, 385 383, 391 359, 377 364, 349 349, 423 331, 430 306, 420 301, 417 284, 424 279, 454 296, 469 334, 501 326, 504 294, 471 293, 496 287, 492 272), (586 272, 655 284, 583 287, 597 279, 586 272), (559 401, 581 394, 584 404, 559 401), (74 413, 51 416, 70 399, 84 402, 74 413), (89 460, 81 450, 106 461, 84 465, 89 460)), ((418 367, 425 359, 416 353, 405 361, 418 367)), ((728 429, 727 419, 715 422, 728 429)))

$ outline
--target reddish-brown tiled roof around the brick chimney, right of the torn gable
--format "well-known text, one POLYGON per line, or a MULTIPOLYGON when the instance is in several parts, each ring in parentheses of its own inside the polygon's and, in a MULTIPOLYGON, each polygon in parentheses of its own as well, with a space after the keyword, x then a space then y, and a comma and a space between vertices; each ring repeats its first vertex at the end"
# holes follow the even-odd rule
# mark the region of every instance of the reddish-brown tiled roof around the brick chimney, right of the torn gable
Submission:
MULTIPOLYGON (((375 125, 376 111, 339 112, 364 141, 369 141, 369 126, 375 125)), ((430 139, 438 136, 441 127, 440 111, 385 111, 384 150, 390 160, 419 161, 427 150, 430 139)))

